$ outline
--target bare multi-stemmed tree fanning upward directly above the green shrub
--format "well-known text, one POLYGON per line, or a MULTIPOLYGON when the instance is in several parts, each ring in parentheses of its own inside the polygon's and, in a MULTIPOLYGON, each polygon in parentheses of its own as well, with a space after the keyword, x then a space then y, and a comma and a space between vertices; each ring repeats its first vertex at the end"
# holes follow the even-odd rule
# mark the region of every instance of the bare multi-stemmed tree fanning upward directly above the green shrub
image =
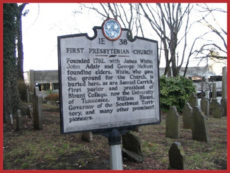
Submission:
POLYGON ((143 15, 150 23, 153 31, 158 35, 163 43, 164 56, 166 61, 165 75, 170 75, 170 64, 172 75, 179 75, 180 68, 185 57, 187 48, 187 33, 189 32, 189 16, 192 10, 191 4, 167 3, 161 4, 140 4, 143 15), (186 23, 184 30, 182 24, 186 23), (182 58, 179 58, 177 47, 181 42, 179 32, 184 32, 184 48, 182 58), (178 56, 178 58, 177 58, 178 56), (180 60, 180 62, 179 62, 180 60))

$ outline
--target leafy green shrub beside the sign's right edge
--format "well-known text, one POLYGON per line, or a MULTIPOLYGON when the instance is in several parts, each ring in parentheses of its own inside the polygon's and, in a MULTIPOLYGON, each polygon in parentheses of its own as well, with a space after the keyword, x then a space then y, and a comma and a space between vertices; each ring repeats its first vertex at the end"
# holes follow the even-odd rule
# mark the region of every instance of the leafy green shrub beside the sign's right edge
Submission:
POLYGON ((195 87, 190 79, 181 76, 160 77, 160 107, 163 111, 169 110, 170 106, 176 106, 181 112, 193 92, 195 87))

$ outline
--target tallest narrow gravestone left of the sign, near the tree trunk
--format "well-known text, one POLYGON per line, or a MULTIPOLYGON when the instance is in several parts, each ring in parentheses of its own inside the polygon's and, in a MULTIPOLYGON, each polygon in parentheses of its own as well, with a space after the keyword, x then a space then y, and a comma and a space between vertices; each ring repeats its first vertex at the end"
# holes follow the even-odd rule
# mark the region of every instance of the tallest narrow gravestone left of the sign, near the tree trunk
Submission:
POLYGON ((35 92, 33 103, 33 124, 34 129, 42 129, 42 96, 39 92, 35 92))

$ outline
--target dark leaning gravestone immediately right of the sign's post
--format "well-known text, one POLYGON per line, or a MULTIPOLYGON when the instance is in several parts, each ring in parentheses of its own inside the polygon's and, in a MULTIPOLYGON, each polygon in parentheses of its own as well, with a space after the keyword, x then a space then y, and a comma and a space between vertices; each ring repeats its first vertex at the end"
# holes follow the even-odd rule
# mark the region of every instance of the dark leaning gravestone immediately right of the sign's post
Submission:
POLYGON ((131 132, 122 136, 122 153, 127 159, 135 162, 143 162, 140 139, 131 132))

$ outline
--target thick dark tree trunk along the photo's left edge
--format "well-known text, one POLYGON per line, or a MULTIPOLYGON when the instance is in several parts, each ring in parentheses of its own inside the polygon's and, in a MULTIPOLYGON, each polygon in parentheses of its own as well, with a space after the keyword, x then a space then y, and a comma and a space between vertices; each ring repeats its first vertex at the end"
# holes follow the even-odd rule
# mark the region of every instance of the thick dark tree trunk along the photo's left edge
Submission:
POLYGON ((3 11, 3 119, 6 122, 9 120, 9 114, 16 112, 20 102, 15 51, 17 5, 4 4, 3 11))

